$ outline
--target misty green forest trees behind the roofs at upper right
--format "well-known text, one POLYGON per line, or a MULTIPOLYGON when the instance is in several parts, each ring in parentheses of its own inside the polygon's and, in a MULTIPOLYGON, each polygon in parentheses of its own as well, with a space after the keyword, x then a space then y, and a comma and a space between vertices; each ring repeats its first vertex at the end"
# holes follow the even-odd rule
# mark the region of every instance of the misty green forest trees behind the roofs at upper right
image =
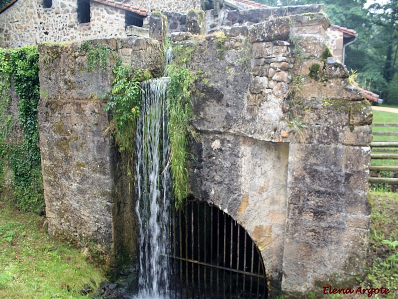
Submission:
POLYGON ((359 85, 398 105, 398 0, 256 0, 270 6, 325 3, 332 24, 354 29, 345 64, 359 85))

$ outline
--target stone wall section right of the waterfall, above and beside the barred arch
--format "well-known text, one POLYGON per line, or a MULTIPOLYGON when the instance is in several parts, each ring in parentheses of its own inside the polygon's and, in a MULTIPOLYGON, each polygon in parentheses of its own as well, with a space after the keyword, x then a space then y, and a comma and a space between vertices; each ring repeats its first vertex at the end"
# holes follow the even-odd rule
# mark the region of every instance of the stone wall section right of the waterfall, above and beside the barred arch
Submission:
POLYGON ((247 230, 271 294, 292 298, 351 284, 368 244, 372 111, 326 57, 329 24, 320 12, 172 35, 195 48, 192 194, 247 230))

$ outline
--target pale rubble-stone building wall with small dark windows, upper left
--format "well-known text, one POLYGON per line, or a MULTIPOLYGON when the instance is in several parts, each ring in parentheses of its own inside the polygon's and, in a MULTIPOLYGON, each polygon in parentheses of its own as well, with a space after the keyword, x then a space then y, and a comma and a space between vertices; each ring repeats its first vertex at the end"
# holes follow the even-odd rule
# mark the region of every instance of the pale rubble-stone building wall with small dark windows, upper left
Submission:
POLYGON ((125 10, 90 1, 90 23, 78 23, 77 1, 17 1, 0 14, 0 47, 17 48, 43 41, 69 42, 126 37, 125 10))

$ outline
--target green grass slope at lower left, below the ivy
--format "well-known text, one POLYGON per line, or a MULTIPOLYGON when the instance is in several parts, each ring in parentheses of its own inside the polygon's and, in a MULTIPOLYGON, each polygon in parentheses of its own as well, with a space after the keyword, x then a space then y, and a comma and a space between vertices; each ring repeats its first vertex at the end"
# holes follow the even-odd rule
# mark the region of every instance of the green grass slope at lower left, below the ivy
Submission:
POLYGON ((0 201, 0 298, 91 298, 105 277, 77 249, 50 238, 45 218, 0 201))

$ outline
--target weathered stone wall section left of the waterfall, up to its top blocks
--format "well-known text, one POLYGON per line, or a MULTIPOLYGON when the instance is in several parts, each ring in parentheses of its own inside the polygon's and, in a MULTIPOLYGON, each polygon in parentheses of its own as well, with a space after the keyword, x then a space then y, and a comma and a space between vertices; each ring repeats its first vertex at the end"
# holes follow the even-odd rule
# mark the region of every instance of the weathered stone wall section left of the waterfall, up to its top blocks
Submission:
MULTIPOLYGON (((133 68, 155 76, 163 70, 161 46, 151 38, 93 40, 133 68)), ((84 246, 94 241, 110 258, 135 256, 134 197, 120 154, 105 133, 104 112, 113 81, 114 58, 106 69, 87 71, 79 43, 40 44, 38 105, 44 198, 49 232, 84 246), (128 237, 127 237, 128 236, 128 237), (115 254, 116 256, 114 256, 115 254)), ((117 262, 117 261, 116 261, 117 262)))

